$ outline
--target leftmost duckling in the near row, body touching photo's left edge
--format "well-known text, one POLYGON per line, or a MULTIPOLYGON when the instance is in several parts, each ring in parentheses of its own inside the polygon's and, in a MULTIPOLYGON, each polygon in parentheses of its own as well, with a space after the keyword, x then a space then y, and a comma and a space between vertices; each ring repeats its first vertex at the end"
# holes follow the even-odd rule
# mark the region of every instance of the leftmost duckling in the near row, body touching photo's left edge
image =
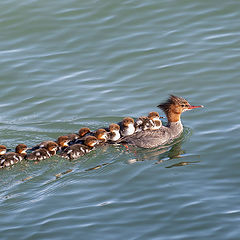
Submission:
POLYGON ((1 157, 0 167, 9 167, 17 162, 22 161, 27 155, 27 146, 25 144, 18 144, 15 152, 8 152, 1 157))

